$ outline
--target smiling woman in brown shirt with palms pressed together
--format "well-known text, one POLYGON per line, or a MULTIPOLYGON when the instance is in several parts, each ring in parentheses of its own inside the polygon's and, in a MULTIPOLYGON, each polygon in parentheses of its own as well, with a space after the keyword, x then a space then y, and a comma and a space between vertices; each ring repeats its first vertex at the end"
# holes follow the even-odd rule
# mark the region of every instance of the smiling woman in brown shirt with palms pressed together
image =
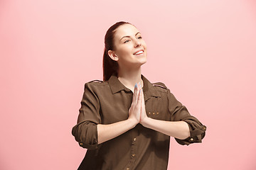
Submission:
POLYGON ((161 82, 141 73, 146 43, 135 26, 107 30, 103 81, 85 84, 72 134, 87 148, 78 169, 167 169, 170 136, 181 145, 201 142, 206 126, 161 82), (135 85, 135 86, 134 86, 135 85))

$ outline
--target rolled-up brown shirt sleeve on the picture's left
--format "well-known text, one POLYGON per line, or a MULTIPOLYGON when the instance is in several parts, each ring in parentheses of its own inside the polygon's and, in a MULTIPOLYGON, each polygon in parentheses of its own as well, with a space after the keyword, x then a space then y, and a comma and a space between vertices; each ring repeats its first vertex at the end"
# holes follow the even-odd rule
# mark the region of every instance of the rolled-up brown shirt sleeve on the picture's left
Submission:
POLYGON ((80 147, 97 149, 97 124, 100 122, 99 98, 97 98, 92 84, 86 83, 79 109, 78 123, 72 129, 72 135, 80 147))

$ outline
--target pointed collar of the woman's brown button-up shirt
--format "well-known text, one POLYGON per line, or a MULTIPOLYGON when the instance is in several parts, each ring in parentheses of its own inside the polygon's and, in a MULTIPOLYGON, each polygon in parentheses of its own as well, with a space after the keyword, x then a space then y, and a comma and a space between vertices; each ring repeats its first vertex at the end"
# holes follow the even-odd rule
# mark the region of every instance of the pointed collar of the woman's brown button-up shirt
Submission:
MULTIPOLYGON (((146 79, 146 77, 144 77, 142 74, 141 74, 141 77, 142 77, 142 81, 143 81, 143 91, 144 91, 145 101, 147 99, 149 99, 151 96, 161 97, 161 95, 159 94, 159 91, 156 91, 156 89, 151 84, 151 82, 148 79, 146 79)), ((110 84, 110 89, 112 91, 112 94, 115 94, 122 90, 131 91, 126 86, 124 86, 124 84, 122 84, 121 81, 119 81, 119 79, 117 78, 117 76, 115 74, 112 74, 110 79, 107 81, 110 84)))

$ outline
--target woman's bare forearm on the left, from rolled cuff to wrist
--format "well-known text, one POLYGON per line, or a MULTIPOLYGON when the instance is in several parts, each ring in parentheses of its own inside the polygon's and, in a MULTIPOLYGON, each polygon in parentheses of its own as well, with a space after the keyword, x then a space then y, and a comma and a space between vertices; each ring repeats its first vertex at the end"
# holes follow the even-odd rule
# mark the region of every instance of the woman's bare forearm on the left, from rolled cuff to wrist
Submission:
POLYGON ((120 122, 112 123, 109 125, 98 124, 98 144, 122 135, 124 132, 127 132, 128 130, 134 128, 135 125, 137 125, 137 123, 132 119, 122 120, 120 122))

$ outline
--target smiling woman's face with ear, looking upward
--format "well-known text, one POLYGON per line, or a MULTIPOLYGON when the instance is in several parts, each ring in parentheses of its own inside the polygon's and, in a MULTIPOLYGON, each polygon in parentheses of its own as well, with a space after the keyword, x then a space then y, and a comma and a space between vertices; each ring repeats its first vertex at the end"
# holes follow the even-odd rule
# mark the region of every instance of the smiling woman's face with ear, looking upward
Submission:
POLYGON ((119 67, 140 67, 146 62, 146 42, 139 30, 131 24, 117 28, 114 47, 115 50, 109 50, 109 55, 118 62, 119 67))

